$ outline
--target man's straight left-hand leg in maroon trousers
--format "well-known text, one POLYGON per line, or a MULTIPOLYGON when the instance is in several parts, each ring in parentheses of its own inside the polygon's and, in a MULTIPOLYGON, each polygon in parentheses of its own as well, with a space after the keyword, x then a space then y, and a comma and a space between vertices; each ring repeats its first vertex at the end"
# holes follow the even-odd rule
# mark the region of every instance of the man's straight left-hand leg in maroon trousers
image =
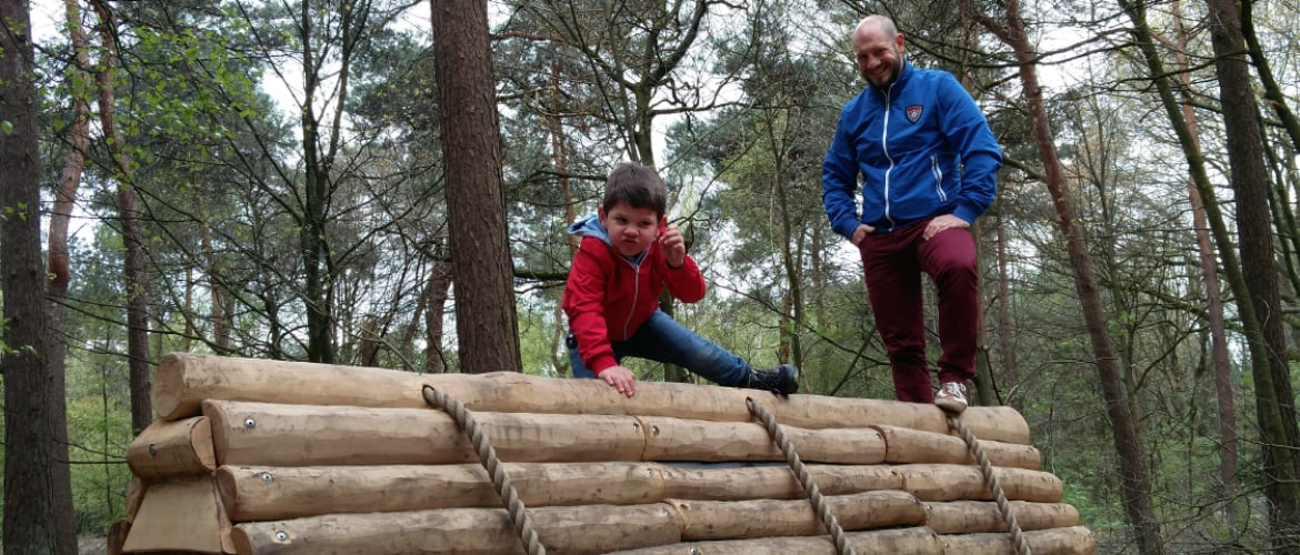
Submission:
POLYGON ((920 266, 914 251, 923 230, 924 225, 915 224, 897 231, 870 234, 858 243, 871 312, 889 355, 894 395, 910 403, 935 402, 926 364, 920 266))

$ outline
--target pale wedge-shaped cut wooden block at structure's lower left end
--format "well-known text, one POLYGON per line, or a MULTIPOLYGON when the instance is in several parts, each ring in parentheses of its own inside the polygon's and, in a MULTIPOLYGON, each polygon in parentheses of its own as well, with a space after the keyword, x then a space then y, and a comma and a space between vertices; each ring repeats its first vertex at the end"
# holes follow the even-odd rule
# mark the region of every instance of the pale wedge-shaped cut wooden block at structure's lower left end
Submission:
POLYGON ((230 529, 211 476, 165 478, 150 482, 122 551, 234 552, 230 529))

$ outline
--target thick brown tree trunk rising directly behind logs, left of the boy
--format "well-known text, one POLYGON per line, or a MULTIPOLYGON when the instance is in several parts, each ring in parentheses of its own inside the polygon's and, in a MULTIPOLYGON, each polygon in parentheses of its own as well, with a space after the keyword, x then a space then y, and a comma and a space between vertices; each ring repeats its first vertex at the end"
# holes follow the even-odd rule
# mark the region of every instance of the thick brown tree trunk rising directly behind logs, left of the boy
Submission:
POLYGON ((486 0, 432 0, 460 369, 520 372, 486 0))

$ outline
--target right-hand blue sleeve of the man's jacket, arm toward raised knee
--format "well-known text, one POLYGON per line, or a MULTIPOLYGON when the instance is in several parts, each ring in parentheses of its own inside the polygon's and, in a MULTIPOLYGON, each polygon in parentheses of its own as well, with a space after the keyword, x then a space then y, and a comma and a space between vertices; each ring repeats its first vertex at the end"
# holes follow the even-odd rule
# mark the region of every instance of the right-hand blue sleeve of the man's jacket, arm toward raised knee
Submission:
POLYGON ((946 123, 944 133, 962 164, 962 190, 953 216, 974 224, 997 195, 1002 148, 970 92, 950 74, 944 74, 939 83, 939 97, 945 103, 944 113, 948 114, 942 120, 946 123))

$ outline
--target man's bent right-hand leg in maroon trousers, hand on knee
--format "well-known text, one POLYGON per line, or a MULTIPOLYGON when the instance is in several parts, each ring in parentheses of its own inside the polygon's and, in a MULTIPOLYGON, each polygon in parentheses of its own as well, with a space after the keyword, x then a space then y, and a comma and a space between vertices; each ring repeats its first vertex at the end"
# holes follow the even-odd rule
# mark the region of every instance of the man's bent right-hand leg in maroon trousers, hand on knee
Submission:
POLYGON ((916 253, 939 291, 939 382, 965 382, 975 377, 980 326, 975 239, 968 229, 949 229, 916 253))

